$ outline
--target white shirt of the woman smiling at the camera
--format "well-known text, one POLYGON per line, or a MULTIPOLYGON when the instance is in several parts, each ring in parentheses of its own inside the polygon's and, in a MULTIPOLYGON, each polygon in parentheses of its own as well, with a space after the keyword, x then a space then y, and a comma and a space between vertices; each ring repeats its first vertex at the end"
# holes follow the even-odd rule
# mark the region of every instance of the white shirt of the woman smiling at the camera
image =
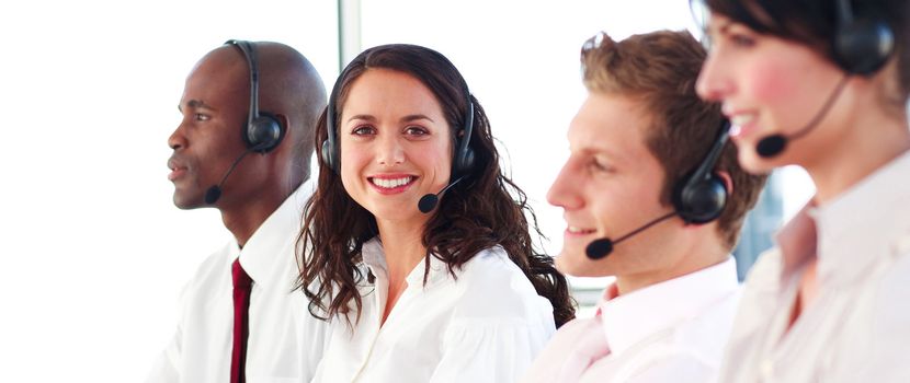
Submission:
POLYGON ((388 276, 378 240, 364 244, 363 259, 375 287, 362 290, 353 329, 332 321, 314 382, 514 382, 555 332, 549 301, 500 247, 478 253, 457 279, 431 256, 425 286, 419 263, 382 327, 388 276))

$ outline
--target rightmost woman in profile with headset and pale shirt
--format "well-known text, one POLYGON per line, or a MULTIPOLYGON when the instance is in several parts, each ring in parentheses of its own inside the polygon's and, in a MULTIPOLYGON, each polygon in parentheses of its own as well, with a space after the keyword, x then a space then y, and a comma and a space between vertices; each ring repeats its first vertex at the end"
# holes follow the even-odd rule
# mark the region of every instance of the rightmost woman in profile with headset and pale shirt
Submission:
POLYGON ((707 0, 699 94, 816 195, 750 271, 723 382, 910 382, 910 2, 707 0))

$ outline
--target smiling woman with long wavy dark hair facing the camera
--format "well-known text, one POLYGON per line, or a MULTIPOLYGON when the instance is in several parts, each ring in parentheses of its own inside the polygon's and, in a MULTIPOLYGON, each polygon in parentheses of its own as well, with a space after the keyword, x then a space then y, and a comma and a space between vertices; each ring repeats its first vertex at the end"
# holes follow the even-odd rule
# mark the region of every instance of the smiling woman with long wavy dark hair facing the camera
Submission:
POLYGON ((359 55, 316 142, 299 280, 333 326, 316 381, 514 381, 573 317, 484 108, 444 56, 359 55))

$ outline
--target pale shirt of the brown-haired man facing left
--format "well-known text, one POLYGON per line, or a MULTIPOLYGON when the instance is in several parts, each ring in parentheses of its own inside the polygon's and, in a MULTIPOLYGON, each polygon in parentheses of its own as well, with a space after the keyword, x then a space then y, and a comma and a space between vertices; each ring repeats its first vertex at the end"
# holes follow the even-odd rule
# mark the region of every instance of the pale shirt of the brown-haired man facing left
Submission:
POLYGON ((736 262, 618 295, 556 333, 522 382, 714 382, 739 299, 736 262))

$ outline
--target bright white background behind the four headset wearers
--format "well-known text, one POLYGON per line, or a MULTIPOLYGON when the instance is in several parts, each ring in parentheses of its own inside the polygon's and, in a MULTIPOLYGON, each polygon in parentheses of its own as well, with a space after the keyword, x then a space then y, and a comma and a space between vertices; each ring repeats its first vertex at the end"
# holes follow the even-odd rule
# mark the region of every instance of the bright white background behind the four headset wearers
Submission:
MULTIPOLYGON (((180 290, 228 235, 217 211, 171 204, 166 142, 186 73, 228 38, 271 39, 300 50, 331 86, 334 4, 0 5, 0 380, 144 379, 172 335, 180 290)), ((458 66, 553 240, 550 253, 564 223, 545 195, 584 97, 582 42, 601 30, 622 38, 664 27, 694 27, 687 1, 363 4, 364 47, 421 44, 458 66)), ((810 193, 799 189, 788 200, 810 193)))

